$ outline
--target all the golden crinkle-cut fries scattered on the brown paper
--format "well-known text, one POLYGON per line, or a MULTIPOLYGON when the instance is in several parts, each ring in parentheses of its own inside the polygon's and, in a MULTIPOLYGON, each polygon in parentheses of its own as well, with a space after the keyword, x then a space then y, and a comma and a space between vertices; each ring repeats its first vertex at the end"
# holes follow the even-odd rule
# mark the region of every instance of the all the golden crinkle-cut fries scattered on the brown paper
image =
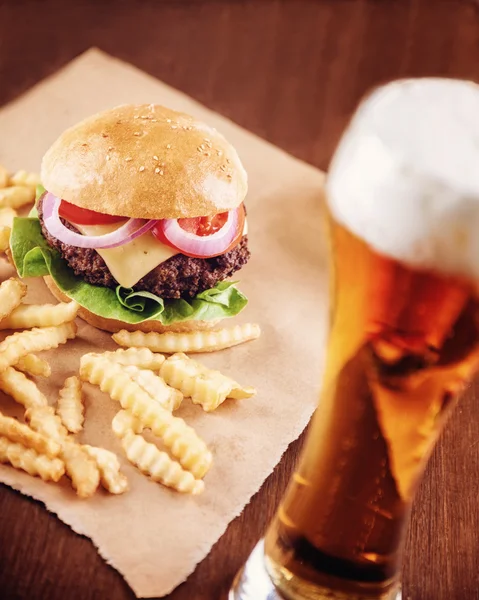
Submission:
MULTIPOLYGON (((20 171, 9 177, 0 166, 0 251, 8 253, 15 208, 33 201, 38 183, 34 174, 20 171)), ((85 422, 82 384, 88 382, 120 404, 112 430, 130 463, 169 488, 201 493, 212 454, 173 413, 184 398, 210 412, 228 398, 246 399, 256 391, 185 353, 213 352, 256 339, 259 326, 191 333, 120 331, 112 337, 123 348, 83 355, 78 375, 65 380, 51 406, 32 379, 51 376, 50 364, 36 353, 75 337, 79 307, 75 302, 24 304, 25 294, 19 279, 0 285, 0 330, 21 330, 0 343, 0 390, 25 409, 23 423, 0 412, 0 462, 44 481, 58 482, 65 475, 81 498, 92 496, 100 484, 112 494, 125 492, 128 481, 118 456, 76 438, 85 422), (143 437, 145 430, 160 447, 143 437)))

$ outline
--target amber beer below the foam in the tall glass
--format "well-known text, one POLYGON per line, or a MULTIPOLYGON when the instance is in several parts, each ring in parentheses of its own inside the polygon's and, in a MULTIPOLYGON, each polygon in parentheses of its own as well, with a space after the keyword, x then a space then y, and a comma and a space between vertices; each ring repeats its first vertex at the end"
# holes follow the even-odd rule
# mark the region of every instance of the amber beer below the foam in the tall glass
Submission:
POLYGON ((330 224, 323 391, 266 569, 285 598, 389 599, 416 485, 476 368, 479 305, 471 282, 410 268, 330 224))

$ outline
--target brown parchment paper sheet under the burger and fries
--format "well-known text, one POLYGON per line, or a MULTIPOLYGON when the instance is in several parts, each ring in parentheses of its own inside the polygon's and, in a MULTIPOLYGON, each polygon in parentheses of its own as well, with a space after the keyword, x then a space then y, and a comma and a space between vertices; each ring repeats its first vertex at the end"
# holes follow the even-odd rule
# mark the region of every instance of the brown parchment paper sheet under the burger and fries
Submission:
MULTIPOLYGON (((124 102, 154 102, 191 113, 232 142, 249 174, 250 264, 238 275, 250 303, 236 321, 261 324, 258 341, 199 355, 258 394, 228 401, 213 414, 185 406, 179 412, 209 444, 214 465, 199 497, 171 492, 130 466, 110 430, 118 405, 85 386, 82 439, 115 451, 131 490, 99 491, 79 500, 68 482, 45 484, 0 466, 0 481, 45 503, 76 532, 90 537, 104 559, 139 597, 162 596, 179 585, 210 551, 228 523, 296 439, 314 410, 324 355, 327 261, 321 223, 323 174, 292 158, 184 94, 136 68, 92 49, 0 111, 0 163, 38 171, 41 157, 63 129, 96 111, 124 102)), ((291 107, 292 109, 294 107, 291 107)), ((1 267, 5 277, 8 268, 1 267)), ((52 302, 37 279, 30 302, 52 302)), ((108 334, 79 321, 78 339, 52 359, 50 381, 39 385, 56 401, 64 378, 88 351, 114 348, 108 334)), ((21 414, 11 399, 0 407, 21 414)))

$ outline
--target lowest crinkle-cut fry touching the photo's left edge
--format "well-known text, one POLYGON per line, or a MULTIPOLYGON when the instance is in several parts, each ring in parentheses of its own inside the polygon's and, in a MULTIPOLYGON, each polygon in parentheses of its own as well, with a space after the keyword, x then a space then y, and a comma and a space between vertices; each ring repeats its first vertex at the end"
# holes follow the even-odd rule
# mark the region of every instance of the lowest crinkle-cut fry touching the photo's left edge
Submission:
POLYGON ((47 458, 5 437, 0 437, 0 462, 10 463, 15 469, 41 477, 44 481, 57 482, 65 473, 65 465, 59 458, 47 458))

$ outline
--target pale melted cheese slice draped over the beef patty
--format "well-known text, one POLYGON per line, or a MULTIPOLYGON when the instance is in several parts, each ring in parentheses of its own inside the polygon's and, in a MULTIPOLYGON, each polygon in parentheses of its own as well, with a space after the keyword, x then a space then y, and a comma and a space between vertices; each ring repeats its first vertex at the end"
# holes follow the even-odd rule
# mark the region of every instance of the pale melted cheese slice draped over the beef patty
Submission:
MULTIPOLYGON (((104 235, 118 229, 121 224, 77 225, 75 223, 75 227, 83 235, 104 235)), ((243 235, 247 233, 248 225, 245 220, 243 235)), ((166 246, 158 241, 151 231, 128 244, 118 246, 118 248, 98 249, 97 252, 105 261, 113 277, 121 286, 127 288, 133 287, 142 277, 165 260, 179 254, 171 246, 166 246)))

